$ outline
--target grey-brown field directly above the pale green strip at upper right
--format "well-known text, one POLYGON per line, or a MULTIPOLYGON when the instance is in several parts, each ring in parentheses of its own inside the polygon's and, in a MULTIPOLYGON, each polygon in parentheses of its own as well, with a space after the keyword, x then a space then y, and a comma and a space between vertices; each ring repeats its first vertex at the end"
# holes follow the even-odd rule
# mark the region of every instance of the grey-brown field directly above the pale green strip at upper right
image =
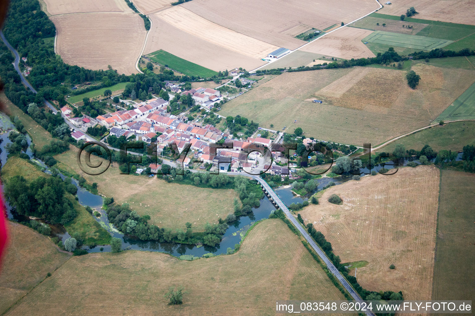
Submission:
MULTIPOLYGON (((378 11, 379 12, 379 11, 378 11)), ((401 33, 401 34, 409 34, 409 35, 416 35, 419 31, 427 27, 427 24, 422 23, 412 23, 409 22, 412 26, 411 28, 403 27, 408 25, 406 21, 396 21, 390 20, 386 18, 376 18, 368 16, 366 18, 362 18, 352 24, 348 24, 350 27, 359 27, 359 28, 366 28, 369 30, 377 31, 377 30, 384 30, 386 32, 394 32, 394 33, 401 33), (379 23, 380 25, 376 25, 379 23), (385 23, 386 25, 383 27, 382 24, 385 23)), ((436 37, 436 36, 432 36, 436 37)))

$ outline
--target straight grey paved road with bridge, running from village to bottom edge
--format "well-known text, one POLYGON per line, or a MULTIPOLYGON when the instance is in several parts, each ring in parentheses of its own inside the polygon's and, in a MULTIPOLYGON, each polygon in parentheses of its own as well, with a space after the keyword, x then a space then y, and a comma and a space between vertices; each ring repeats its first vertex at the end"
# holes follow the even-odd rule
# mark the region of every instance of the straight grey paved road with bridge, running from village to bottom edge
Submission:
MULTIPOLYGON (((342 283, 342 285, 345 287, 345 289, 350 293, 350 295, 353 297, 354 300, 356 301, 362 301, 360 295, 356 293, 356 291, 352 288, 350 283, 342 276, 340 271, 333 265, 333 262, 328 259, 326 254, 323 252, 322 249, 314 242, 314 239, 307 233, 307 231, 300 225, 300 222, 297 221, 297 219, 290 213, 289 209, 285 205, 284 202, 279 198, 279 196, 272 190, 272 188, 267 184, 267 182, 254 175, 247 174, 245 172, 228 172, 228 175, 240 175, 240 176, 245 176, 245 177, 250 177, 253 178, 257 181, 259 181, 260 184, 264 186, 264 189, 270 194, 271 198, 276 201, 277 205, 279 206, 280 209, 282 209, 287 216, 287 218, 294 224, 294 226, 299 230, 299 232, 304 236, 304 238, 308 241, 308 243, 314 248, 315 252, 318 254, 318 256, 325 262, 327 265, 328 269, 335 275, 335 277, 342 283)), ((368 316, 374 316, 373 313, 367 312, 366 315, 368 316)))

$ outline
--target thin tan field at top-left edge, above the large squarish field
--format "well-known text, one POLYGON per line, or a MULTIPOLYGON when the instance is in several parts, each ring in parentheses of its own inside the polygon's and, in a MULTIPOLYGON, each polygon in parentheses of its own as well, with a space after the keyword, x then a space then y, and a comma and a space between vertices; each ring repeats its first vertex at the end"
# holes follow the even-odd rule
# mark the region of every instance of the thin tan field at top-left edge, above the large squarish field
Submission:
MULTIPOLYGON (((43 0, 51 15, 86 12, 132 12, 123 0, 43 0)), ((43 8, 44 9, 44 8, 43 8)))

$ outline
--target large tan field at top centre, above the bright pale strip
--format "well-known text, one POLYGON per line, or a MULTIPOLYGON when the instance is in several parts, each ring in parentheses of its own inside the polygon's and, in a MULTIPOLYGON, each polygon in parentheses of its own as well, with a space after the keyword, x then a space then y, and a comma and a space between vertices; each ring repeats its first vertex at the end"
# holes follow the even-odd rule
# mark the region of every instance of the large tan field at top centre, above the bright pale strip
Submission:
POLYGON ((301 25, 323 30, 342 21, 349 23, 379 7, 374 0, 341 5, 325 0, 193 0, 181 6, 218 25, 291 50, 305 44, 294 38, 301 25))

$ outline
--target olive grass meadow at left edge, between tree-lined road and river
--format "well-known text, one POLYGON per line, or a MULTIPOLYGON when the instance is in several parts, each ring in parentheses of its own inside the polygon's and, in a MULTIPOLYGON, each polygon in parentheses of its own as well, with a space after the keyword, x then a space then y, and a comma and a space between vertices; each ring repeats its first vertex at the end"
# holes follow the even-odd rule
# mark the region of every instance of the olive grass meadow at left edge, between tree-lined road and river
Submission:
POLYGON ((41 149, 44 145, 51 142, 53 139, 51 134, 49 134, 46 129, 39 126, 35 120, 25 114, 25 112, 23 112, 19 107, 11 103, 3 92, 0 93, 0 102, 5 106, 4 110, 6 114, 15 115, 20 118, 23 126, 25 126, 26 130, 28 131, 28 135, 30 135, 33 144, 35 144, 36 149, 41 149))

